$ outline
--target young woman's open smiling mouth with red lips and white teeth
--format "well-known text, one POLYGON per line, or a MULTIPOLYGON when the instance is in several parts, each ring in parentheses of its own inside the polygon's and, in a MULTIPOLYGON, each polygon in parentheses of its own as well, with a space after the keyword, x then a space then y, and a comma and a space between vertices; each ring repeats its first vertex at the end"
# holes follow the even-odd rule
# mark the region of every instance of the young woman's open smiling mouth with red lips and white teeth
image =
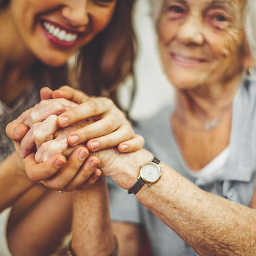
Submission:
POLYGON ((67 29, 56 23, 47 20, 41 21, 41 27, 44 30, 49 41, 59 48, 71 48, 78 41, 81 32, 67 29))

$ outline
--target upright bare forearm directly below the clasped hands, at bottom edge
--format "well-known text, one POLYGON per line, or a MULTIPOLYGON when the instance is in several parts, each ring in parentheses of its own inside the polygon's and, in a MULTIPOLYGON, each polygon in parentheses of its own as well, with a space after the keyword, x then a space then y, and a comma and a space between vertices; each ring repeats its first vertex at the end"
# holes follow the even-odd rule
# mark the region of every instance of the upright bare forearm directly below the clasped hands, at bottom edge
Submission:
POLYGON ((72 248, 75 255, 108 256, 115 248, 105 177, 74 195, 72 248))

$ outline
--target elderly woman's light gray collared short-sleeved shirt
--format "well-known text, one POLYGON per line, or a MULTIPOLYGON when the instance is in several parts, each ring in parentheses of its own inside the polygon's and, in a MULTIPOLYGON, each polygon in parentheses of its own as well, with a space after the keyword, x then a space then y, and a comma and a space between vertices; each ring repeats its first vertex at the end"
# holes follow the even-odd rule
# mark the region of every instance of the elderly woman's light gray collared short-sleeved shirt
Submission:
MULTIPOLYGON (((233 100, 228 156, 218 172, 193 175, 186 166, 169 124, 174 105, 149 120, 139 122, 136 133, 146 141, 145 148, 182 176, 206 191, 249 206, 256 175, 256 82, 243 83, 233 100)), ((172 182, 170 182, 172 186, 172 182)), ((142 224, 148 232, 156 256, 198 255, 171 228, 146 209, 134 195, 109 182, 111 216, 115 221, 142 224)))

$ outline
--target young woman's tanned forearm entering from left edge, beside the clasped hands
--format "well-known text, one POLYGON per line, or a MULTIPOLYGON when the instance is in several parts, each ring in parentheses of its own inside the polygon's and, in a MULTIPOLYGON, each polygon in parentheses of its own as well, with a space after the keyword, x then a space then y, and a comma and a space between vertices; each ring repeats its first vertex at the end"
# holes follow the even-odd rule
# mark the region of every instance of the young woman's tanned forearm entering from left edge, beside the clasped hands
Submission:
POLYGON ((16 153, 0 164, 0 211, 11 206, 13 202, 30 189, 35 183, 28 179, 16 153))

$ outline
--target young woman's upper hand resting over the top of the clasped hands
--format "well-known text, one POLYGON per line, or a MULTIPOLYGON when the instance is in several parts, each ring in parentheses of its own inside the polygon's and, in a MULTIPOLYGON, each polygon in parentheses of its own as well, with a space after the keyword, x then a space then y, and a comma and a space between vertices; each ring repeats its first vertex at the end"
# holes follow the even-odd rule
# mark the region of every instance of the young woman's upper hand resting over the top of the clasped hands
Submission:
POLYGON ((41 98, 65 98, 79 104, 58 116, 57 123, 60 127, 67 127, 89 117, 95 118, 95 122, 68 135, 71 146, 86 142, 87 148, 95 152, 117 145, 120 152, 127 153, 139 150, 144 144, 143 137, 134 133, 131 123, 108 98, 89 97, 68 86, 56 91, 43 88, 41 98))

